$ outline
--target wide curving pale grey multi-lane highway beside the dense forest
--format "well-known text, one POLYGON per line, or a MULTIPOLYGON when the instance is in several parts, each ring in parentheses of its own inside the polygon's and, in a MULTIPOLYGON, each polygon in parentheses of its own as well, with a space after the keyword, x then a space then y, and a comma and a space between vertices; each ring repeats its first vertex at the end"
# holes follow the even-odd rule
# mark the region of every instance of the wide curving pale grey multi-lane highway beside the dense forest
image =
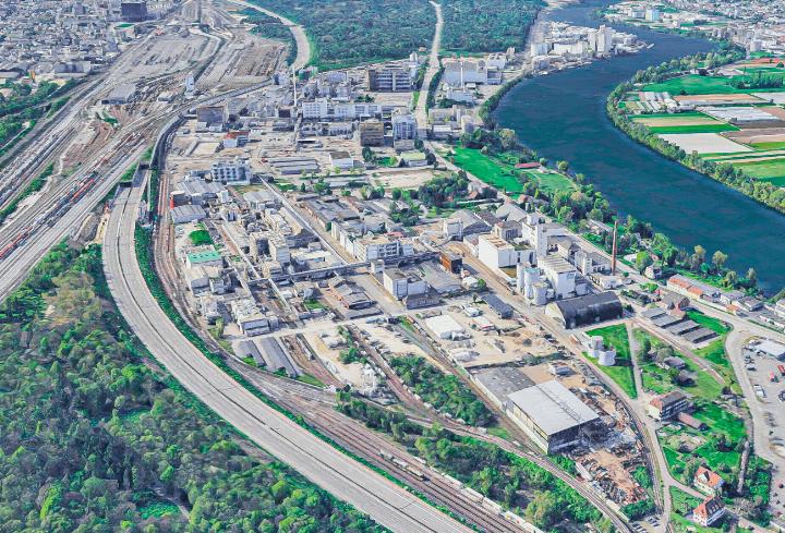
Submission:
POLYGON ((172 376, 229 424, 313 483, 400 532, 469 532, 270 408, 207 360, 161 311, 134 253, 142 189, 118 197, 105 235, 105 271, 118 307, 172 376))

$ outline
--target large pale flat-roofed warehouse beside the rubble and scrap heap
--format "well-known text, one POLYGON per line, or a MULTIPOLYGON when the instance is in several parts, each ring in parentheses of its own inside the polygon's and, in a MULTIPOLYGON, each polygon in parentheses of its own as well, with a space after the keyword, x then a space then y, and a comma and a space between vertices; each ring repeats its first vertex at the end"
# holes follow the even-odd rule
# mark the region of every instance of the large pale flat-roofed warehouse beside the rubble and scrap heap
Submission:
POLYGON ((578 444, 581 429, 600 419, 555 379, 512 392, 509 401, 512 420, 547 453, 578 444))

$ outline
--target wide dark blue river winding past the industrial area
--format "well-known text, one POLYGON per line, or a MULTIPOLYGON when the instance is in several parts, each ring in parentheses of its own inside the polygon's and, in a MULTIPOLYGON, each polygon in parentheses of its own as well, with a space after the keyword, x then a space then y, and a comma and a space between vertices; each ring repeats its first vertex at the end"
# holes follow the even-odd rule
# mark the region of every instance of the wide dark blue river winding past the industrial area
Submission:
MULTIPOLYGON (((544 20, 599 26, 594 12, 607 1, 587 0, 543 15, 544 20)), ((709 51, 712 43, 614 24, 654 47, 526 80, 500 101, 494 117, 551 161, 567 160, 594 183, 621 214, 651 222, 691 251, 703 245, 728 254, 744 275, 754 267, 768 292, 785 287, 785 216, 721 183, 635 143, 605 113, 605 98, 639 69, 709 51)))

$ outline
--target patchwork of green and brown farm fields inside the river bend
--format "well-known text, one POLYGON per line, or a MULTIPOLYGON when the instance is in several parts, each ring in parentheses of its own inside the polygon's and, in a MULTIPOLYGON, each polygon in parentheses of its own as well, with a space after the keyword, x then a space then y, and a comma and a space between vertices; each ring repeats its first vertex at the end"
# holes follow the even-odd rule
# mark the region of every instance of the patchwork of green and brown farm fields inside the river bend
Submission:
MULTIPOLYGON (((730 63, 740 57, 741 51, 714 56, 722 58, 721 64, 730 63)), ((698 60, 687 59, 690 63, 695 62, 693 59, 698 60)), ((769 95, 772 99, 778 99, 780 95, 785 97, 785 89, 781 93, 756 93, 756 88, 750 87, 749 93, 741 93, 740 89, 734 90, 730 82, 726 81, 744 85, 746 82, 742 80, 752 80, 751 76, 738 76, 741 80, 733 76, 696 76, 684 71, 683 64, 684 60, 676 69, 663 64, 661 66, 667 70, 653 75, 639 71, 631 81, 618 85, 607 99, 607 113, 613 123, 629 137, 662 156, 785 214, 785 152, 771 149, 778 146, 776 142, 765 142, 766 138, 785 138, 785 120, 777 117, 785 116, 785 110, 778 106, 753 107, 764 106, 769 95), (648 84, 641 84, 643 80, 648 84), (643 92, 667 90, 671 87, 672 92, 688 94, 665 92, 652 101, 640 101, 643 92), (708 113, 691 111, 695 106, 689 102, 701 99, 712 101, 708 113), (633 110, 635 106, 638 108, 633 110), (641 106, 653 106, 656 109, 641 110, 641 106), (666 117, 657 114, 657 111, 665 110, 666 117), (737 126, 737 117, 745 120, 740 126, 737 126)), ((733 72, 735 69, 729 64, 721 70, 733 72)), ((775 74, 780 77, 772 78, 772 83, 777 82, 783 88, 782 73, 775 74)))

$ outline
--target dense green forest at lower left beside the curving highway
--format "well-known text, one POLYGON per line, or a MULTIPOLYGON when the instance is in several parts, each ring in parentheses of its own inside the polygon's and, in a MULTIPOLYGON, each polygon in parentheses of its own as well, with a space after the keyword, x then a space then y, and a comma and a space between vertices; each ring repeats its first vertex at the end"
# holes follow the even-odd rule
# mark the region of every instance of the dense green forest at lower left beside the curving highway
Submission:
POLYGON ((145 359, 99 247, 57 247, 0 306, 0 532, 382 531, 145 359))

